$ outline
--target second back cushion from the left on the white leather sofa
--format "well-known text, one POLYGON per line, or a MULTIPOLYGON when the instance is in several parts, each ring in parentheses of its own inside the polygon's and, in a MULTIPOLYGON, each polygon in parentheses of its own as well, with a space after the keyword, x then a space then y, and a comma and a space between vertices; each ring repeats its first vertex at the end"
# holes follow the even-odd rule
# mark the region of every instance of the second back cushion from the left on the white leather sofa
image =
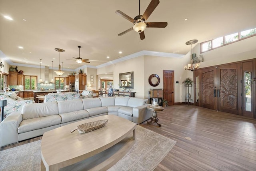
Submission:
POLYGON ((83 102, 81 99, 74 99, 68 101, 57 101, 59 114, 60 113, 68 113, 72 111, 83 110, 83 102))

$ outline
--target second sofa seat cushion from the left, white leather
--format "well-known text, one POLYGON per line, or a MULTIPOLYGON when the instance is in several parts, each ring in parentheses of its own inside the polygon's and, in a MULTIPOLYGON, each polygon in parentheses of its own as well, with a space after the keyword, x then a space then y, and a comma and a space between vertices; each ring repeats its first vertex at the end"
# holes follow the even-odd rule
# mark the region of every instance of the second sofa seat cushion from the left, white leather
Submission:
POLYGON ((59 115, 61 117, 61 123, 66 123, 66 122, 75 121, 75 120, 89 117, 89 113, 86 110, 78 110, 78 111, 72 111, 72 112, 68 112, 68 113, 60 113, 59 115))

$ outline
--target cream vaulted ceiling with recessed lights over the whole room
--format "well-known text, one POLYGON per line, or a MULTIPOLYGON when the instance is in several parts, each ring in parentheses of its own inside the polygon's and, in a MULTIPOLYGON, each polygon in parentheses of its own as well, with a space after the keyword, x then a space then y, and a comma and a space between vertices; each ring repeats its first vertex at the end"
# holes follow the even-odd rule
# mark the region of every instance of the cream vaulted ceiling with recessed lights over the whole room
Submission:
MULTIPOLYGON (((150 1, 140 1, 141 14, 150 1)), ((54 61, 57 68, 59 52, 54 48, 61 48, 65 52, 60 54, 60 63, 76 69, 96 67, 142 50, 187 54, 188 40, 200 43, 256 28, 256 0, 160 0, 147 21, 168 25, 146 28, 144 40, 133 30, 118 36, 133 24, 116 10, 134 18, 139 0, 0 0, 0 50, 9 64, 40 66, 42 59, 42 66, 52 66, 54 61), (80 57, 90 64, 71 60, 79 56, 78 46, 82 46, 80 57)))

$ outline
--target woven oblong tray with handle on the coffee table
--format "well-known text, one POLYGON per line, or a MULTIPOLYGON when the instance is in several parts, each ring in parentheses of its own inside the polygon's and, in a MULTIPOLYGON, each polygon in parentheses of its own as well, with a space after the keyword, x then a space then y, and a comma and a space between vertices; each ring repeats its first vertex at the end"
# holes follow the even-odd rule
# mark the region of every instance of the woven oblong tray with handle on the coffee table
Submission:
MULTIPOLYGON (((107 123, 108 123, 108 119, 98 120, 98 121, 93 121, 93 122, 84 123, 82 125, 78 125, 76 129, 78 130, 79 133, 86 133, 86 132, 90 132, 95 129, 104 127, 107 123)), ((76 129, 73 129, 72 131, 70 131, 70 133, 73 133, 74 131, 76 131, 76 129)))

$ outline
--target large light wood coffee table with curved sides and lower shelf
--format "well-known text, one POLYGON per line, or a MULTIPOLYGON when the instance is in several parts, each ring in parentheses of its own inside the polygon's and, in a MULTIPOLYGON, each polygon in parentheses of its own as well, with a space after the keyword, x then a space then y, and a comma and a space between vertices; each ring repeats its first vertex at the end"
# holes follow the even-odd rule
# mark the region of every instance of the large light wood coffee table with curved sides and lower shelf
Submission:
POLYGON ((103 115, 47 131, 41 141, 41 170, 106 170, 134 145, 135 127, 122 117, 103 115), (108 123, 100 129, 70 133, 78 125, 101 119, 108 123))

